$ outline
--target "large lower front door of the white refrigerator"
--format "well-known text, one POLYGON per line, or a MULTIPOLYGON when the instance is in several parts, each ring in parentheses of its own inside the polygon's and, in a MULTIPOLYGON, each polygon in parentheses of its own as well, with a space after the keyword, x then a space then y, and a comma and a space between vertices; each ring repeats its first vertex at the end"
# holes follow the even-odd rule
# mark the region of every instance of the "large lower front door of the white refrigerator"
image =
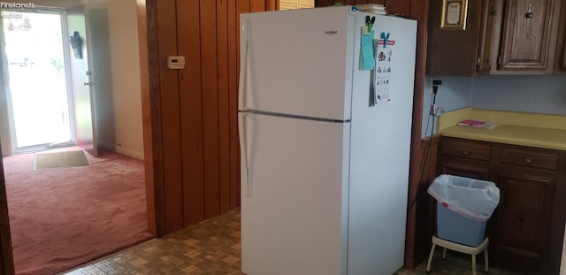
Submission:
POLYGON ((345 274, 349 124, 239 115, 241 270, 345 274))

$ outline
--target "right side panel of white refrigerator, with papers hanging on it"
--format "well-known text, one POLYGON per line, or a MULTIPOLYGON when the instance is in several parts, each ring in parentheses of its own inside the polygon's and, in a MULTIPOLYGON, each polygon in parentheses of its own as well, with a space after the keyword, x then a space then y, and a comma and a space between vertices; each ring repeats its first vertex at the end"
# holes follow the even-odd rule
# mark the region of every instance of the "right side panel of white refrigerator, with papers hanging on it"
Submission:
MULTIPOLYGON (((356 17, 358 27, 364 17, 356 17)), ((373 28, 390 42, 376 49, 385 56, 376 75, 391 101, 370 107, 371 74, 354 71, 348 274, 356 275, 393 274, 405 251, 417 22, 376 16, 373 28)))

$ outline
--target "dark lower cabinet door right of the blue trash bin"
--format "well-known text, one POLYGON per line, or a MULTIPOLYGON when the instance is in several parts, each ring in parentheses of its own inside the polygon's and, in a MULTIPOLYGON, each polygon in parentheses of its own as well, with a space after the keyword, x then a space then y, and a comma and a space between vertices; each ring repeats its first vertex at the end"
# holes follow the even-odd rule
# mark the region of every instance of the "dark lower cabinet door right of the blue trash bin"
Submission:
POLYGON ((490 243, 493 264, 529 274, 545 274, 555 193, 552 174, 509 166, 499 169, 500 203, 492 218, 496 234, 490 243))

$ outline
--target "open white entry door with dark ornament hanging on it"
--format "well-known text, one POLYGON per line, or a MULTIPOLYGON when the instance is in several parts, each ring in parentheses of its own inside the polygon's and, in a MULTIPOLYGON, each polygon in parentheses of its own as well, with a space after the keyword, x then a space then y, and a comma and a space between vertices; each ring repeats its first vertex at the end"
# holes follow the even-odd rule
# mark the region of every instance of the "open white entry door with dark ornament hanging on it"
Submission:
POLYGON ((71 79, 73 87, 73 105, 75 118, 75 135, 77 145, 96 157, 96 124, 94 94, 96 83, 93 82, 90 67, 88 27, 83 6, 67 10, 68 36, 78 37, 80 41, 71 50, 71 79))

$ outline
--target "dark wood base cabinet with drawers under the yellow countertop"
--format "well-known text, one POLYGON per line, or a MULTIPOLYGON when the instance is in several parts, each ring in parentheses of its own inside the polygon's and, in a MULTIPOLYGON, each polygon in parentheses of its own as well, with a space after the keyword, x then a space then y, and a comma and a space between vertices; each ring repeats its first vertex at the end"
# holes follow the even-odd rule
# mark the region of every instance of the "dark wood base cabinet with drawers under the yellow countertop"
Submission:
POLYGON ((559 273, 566 222, 565 155, 442 137, 439 173, 490 180, 500 189, 500 203, 486 229, 490 264, 519 274, 559 273))

